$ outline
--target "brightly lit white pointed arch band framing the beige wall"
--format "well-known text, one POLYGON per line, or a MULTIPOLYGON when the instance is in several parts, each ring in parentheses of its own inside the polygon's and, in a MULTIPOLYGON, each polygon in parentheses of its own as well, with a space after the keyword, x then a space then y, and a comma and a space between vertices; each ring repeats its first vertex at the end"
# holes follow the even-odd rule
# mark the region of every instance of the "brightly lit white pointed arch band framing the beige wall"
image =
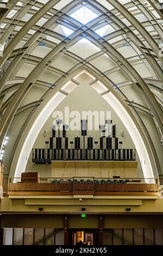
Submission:
MULTIPOLYGON (((37 135, 39 135, 42 126, 46 123, 46 120, 52 114, 54 109, 59 105, 59 103, 65 99, 66 95, 60 93, 59 90, 63 86, 65 88, 65 86, 70 83, 72 78, 77 79, 77 77, 80 76, 80 74, 82 74, 83 72, 86 72, 86 74, 91 76, 92 80, 96 78, 95 74, 93 74, 93 72, 86 66, 77 69, 70 76, 68 76, 62 83, 60 83, 59 87, 56 87, 53 90, 53 94, 52 92, 49 92, 46 98, 42 101, 41 105, 37 108, 32 119, 29 121, 28 126, 24 130, 20 142, 18 143, 14 159, 11 164, 11 176, 20 176, 21 172, 24 171, 27 163, 26 159, 28 159, 29 157, 33 144, 37 138, 37 135)), ((99 84, 101 84, 101 86, 104 86, 102 82, 99 82, 99 84)), ((123 115, 124 119, 122 121, 126 126, 127 130, 129 131, 131 138, 133 139, 137 153, 139 154, 140 159, 142 159, 143 157, 144 162, 142 162, 142 170, 145 178, 156 178, 156 175, 154 176, 152 170, 152 160, 150 159, 151 153, 148 147, 148 141, 146 137, 143 135, 143 131, 139 123, 137 122, 134 115, 131 113, 129 107, 127 106, 127 103, 122 101, 121 97, 115 92, 115 90, 109 84, 108 87, 106 87, 106 89, 110 89, 110 93, 108 95, 103 95, 104 99, 107 102, 108 100, 111 100, 112 103, 114 103, 114 105, 116 106, 117 114, 120 118, 123 115)))

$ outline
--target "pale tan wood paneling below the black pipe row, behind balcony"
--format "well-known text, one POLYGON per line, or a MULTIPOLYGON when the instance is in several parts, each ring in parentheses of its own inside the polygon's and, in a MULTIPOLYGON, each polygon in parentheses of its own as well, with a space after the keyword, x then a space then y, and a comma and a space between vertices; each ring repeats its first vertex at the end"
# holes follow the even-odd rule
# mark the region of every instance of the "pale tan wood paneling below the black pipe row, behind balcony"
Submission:
POLYGON ((136 178, 136 161, 52 161, 52 177, 136 178))

